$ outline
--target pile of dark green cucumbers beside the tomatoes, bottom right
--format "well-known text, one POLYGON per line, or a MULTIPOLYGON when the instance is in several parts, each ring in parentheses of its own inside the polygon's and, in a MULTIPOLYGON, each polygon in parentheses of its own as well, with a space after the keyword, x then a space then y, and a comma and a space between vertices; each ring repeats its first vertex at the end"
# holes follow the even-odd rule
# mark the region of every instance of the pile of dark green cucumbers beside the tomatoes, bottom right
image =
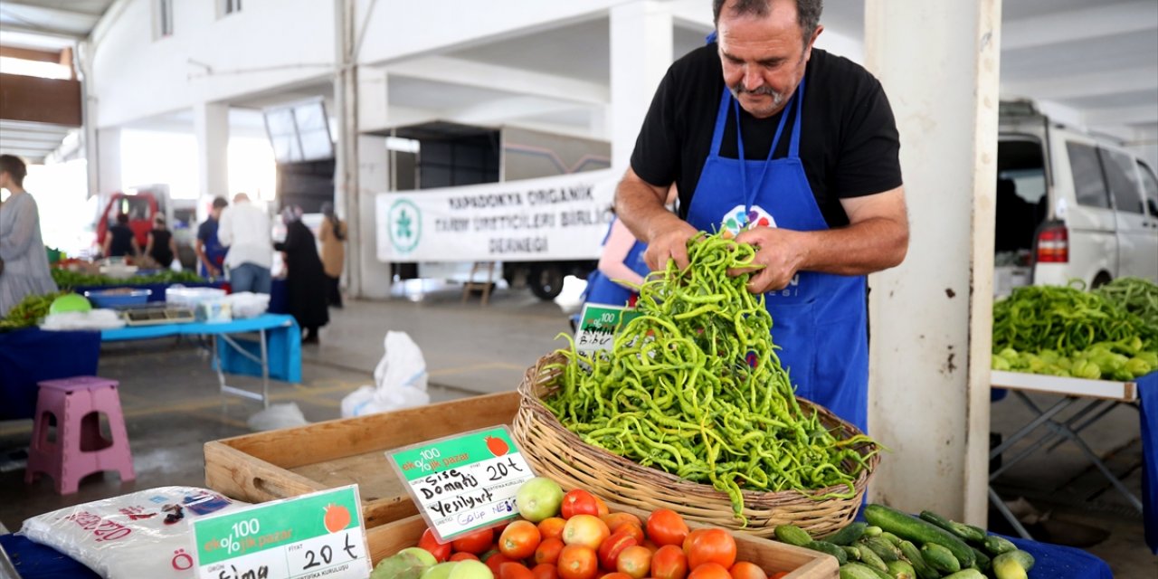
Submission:
POLYGON ((841 579, 1026 579, 1034 565, 1005 537, 931 511, 916 518, 868 504, 864 516, 822 541, 792 525, 776 527, 776 538, 836 556, 841 579))

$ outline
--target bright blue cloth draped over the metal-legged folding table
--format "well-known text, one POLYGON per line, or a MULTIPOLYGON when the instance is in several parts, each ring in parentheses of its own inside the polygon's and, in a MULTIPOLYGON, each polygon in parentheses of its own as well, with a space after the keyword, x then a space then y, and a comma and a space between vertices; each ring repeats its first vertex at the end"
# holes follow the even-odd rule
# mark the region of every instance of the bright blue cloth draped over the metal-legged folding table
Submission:
MULTIPOLYGON (((249 320, 234 320, 222 323, 183 323, 163 325, 140 325, 104 330, 101 339, 107 342, 152 339, 178 335, 222 335, 266 330, 270 378, 285 382, 301 382, 301 330, 293 316, 281 314, 264 314, 249 320)), ((259 356, 261 344, 257 340, 234 338, 240 346, 254 356, 259 356)), ((218 356, 221 358, 221 371, 230 374, 261 376, 262 367, 257 362, 237 353, 225 340, 218 340, 218 356)))

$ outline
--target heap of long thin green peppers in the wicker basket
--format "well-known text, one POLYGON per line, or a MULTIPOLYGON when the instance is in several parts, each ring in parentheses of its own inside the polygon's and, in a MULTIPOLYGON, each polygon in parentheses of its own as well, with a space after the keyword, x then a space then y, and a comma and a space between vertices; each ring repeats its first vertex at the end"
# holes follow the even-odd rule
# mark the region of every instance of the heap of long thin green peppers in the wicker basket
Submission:
POLYGON ((727 493, 740 519, 741 489, 855 496, 878 448, 797 402, 763 295, 747 291, 748 276, 728 276, 753 269, 755 249, 701 233, 688 256, 687 270, 669 263, 648 277, 610 352, 562 351, 547 406, 592 446, 727 493), (813 492, 831 486, 843 489, 813 492))

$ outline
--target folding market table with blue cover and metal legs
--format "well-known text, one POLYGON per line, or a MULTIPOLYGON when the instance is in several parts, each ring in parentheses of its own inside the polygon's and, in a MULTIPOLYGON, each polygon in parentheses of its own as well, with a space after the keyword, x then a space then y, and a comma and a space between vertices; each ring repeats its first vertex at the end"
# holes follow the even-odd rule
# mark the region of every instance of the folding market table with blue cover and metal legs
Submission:
POLYGON ((270 378, 301 382, 301 332, 292 316, 263 314, 232 322, 197 322, 162 325, 125 327, 103 330, 104 342, 153 339, 166 336, 212 336, 213 369, 222 394, 256 400, 269 406, 270 378), (239 338, 237 334, 257 332, 258 340, 239 338), (220 338, 220 340, 219 340, 220 338), (262 378, 262 391, 255 393, 226 383, 225 373, 262 378))

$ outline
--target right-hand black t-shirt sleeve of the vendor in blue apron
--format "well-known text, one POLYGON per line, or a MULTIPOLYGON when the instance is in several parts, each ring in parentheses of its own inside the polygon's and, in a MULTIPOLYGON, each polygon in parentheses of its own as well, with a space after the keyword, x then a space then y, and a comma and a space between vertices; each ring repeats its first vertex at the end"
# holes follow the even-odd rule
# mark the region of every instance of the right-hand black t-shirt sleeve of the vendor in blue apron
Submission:
POLYGON ((858 98, 842 119, 836 163, 829 175, 833 197, 846 199, 881 193, 901 186, 901 140, 893 109, 880 82, 871 74, 860 79, 858 98))

